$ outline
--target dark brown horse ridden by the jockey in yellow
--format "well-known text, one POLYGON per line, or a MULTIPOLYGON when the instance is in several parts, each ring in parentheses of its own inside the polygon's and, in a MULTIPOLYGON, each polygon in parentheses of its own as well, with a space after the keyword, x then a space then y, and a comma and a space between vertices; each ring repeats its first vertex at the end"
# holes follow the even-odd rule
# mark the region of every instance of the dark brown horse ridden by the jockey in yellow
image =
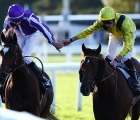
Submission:
MULTIPOLYGON (((133 98, 132 90, 118 69, 114 69, 106 62, 101 52, 101 44, 97 49, 86 48, 82 45, 79 78, 80 91, 83 96, 93 92, 93 113, 96 120, 125 120, 131 111, 131 120, 138 120, 140 115, 139 96, 133 98)), ((140 63, 131 59, 133 65, 140 72, 140 63)))

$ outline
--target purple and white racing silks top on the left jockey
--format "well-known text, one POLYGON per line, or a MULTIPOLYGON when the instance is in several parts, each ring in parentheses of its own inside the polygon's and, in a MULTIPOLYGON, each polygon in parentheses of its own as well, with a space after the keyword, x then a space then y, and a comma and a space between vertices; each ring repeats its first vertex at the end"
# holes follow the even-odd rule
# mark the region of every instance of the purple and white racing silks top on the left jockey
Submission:
MULTIPOLYGON (((14 26, 15 24, 8 19, 8 16, 6 16, 3 31, 7 31, 10 27, 14 26)), ((21 20, 20 25, 18 25, 15 29, 16 34, 20 33, 22 35, 31 35, 37 30, 39 30, 45 38, 48 39, 49 43, 55 41, 54 35, 49 30, 49 27, 43 24, 31 10, 25 10, 24 17, 21 20)))

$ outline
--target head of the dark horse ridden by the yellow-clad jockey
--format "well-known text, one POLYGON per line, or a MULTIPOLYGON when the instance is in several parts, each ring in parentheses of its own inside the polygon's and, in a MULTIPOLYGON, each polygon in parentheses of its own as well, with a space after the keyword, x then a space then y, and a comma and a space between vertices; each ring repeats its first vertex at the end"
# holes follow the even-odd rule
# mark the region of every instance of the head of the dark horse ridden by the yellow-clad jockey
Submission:
POLYGON ((98 85, 104 73, 105 61, 100 52, 101 45, 97 49, 86 48, 82 45, 83 59, 79 70, 81 93, 88 96, 93 91, 94 85, 98 85))

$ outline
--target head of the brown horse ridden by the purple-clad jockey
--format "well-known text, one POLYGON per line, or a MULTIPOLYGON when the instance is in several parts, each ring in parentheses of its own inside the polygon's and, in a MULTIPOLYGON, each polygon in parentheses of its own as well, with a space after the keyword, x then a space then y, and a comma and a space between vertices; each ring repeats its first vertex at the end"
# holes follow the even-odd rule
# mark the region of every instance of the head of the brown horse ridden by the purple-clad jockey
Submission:
POLYGON ((2 49, 0 50, 0 83, 3 83, 12 70, 15 69, 18 59, 18 44, 15 33, 8 31, 5 35, 1 33, 2 49))

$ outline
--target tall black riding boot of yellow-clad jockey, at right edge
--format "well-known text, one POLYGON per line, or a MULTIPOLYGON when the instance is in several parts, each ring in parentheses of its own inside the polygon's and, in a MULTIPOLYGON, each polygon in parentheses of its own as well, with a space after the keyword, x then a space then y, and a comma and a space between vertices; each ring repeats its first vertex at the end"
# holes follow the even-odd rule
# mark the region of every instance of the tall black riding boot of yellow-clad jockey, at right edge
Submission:
POLYGON ((131 60, 128 59, 127 61, 124 62, 126 67, 128 68, 128 73, 130 74, 130 76, 133 78, 130 80, 131 85, 132 85, 132 90, 133 93, 137 96, 140 95, 140 84, 137 80, 137 75, 136 75, 136 69, 135 67, 132 65, 131 60))

